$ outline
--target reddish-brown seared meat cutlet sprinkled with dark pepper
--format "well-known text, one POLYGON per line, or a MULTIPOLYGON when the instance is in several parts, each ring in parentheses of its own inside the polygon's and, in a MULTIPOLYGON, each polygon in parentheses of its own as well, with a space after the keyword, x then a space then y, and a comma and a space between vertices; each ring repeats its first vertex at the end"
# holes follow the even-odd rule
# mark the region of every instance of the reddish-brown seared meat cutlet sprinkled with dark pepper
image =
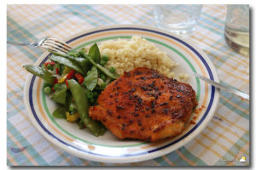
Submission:
POLYGON ((181 133, 196 104, 189 84, 148 68, 137 68, 110 83, 90 107, 119 139, 157 141, 181 133))

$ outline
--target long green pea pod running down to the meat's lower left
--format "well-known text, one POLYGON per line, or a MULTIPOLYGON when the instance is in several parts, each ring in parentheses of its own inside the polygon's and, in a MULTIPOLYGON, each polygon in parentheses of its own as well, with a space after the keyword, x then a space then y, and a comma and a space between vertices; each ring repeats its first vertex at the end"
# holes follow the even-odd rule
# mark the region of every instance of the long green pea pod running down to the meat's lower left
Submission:
POLYGON ((75 80, 67 80, 68 87, 71 90, 75 105, 79 111, 79 116, 84 123, 84 126, 87 127, 91 133, 96 136, 103 135, 106 131, 106 128, 102 125, 101 122, 93 121, 89 116, 89 103, 86 98, 86 89, 82 88, 79 85, 79 82, 75 80))

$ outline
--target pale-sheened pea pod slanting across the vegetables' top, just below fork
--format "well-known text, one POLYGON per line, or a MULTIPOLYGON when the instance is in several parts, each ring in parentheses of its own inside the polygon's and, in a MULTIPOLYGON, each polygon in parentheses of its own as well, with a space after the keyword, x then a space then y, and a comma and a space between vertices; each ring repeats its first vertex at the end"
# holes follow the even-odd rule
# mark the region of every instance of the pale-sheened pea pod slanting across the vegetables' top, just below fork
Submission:
POLYGON ((81 69, 80 65, 78 65, 76 62, 67 59, 65 57, 51 55, 49 57, 50 60, 53 60, 57 63, 60 63, 62 65, 67 65, 68 67, 72 68, 75 71, 78 71, 80 74, 84 75, 84 71, 81 69))

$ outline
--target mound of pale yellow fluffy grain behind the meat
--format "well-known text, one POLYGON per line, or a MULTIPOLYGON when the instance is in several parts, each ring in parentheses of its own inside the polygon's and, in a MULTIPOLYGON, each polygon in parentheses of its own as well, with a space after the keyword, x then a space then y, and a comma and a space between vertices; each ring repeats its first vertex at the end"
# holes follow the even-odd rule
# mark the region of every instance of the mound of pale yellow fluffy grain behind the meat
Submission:
POLYGON ((131 71, 137 67, 147 67, 159 71, 166 77, 174 77, 172 68, 177 65, 165 52, 143 37, 108 40, 99 44, 101 54, 108 55, 108 69, 113 66, 116 73, 131 71))

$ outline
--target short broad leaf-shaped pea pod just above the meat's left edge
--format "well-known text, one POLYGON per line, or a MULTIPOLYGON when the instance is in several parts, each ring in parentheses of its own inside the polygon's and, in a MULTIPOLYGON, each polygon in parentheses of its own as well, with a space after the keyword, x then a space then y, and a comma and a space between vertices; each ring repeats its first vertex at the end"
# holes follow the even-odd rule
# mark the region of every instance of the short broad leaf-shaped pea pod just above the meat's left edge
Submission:
POLYGON ((93 66, 89 72, 89 74, 84 78, 84 85, 90 91, 92 91, 98 82, 98 72, 95 66, 93 66))

